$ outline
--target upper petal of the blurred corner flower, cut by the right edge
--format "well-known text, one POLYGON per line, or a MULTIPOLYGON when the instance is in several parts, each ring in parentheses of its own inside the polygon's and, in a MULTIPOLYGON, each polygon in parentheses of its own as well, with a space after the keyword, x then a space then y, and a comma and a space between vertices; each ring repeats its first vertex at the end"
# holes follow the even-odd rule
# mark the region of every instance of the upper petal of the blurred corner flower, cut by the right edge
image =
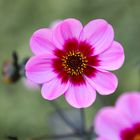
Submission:
POLYGON ((140 92, 127 92, 120 96, 116 108, 131 122, 140 122, 140 92))

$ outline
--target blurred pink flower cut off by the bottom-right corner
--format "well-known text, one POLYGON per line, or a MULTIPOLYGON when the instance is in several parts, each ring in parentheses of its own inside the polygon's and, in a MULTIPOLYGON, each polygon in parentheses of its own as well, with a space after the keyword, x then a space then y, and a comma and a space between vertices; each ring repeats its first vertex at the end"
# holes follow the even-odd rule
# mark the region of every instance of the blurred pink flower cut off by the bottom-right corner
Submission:
POLYGON ((140 140, 140 92, 124 93, 95 118, 97 140, 140 140))

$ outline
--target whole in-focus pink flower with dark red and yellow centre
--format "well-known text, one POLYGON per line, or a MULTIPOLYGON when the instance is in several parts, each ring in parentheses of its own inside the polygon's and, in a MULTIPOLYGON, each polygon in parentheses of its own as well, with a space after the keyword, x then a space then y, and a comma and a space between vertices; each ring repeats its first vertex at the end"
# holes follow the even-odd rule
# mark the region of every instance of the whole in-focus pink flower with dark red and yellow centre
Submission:
POLYGON ((26 64, 28 79, 42 84, 42 96, 54 100, 64 94, 76 108, 89 107, 96 98, 113 93, 116 70, 124 62, 124 51, 114 41, 112 26, 96 19, 83 27, 77 19, 66 19, 54 28, 37 30, 30 40, 35 56, 26 64))

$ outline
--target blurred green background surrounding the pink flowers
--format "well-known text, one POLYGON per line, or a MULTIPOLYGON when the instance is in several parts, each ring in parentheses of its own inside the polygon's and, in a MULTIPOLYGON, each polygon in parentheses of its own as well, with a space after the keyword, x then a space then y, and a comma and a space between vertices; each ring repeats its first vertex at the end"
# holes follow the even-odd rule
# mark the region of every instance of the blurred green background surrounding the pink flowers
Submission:
MULTIPOLYGON (((140 89, 140 1, 139 0, 0 0, 0 68, 13 50, 20 61, 31 55, 29 39, 32 33, 48 27, 53 21, 74 17, 86 24, 95 18, 104 18, 115 30, 115 38, 125 49, 125 64, 115 72, 119 86, 115 94, 98 96, 86 109, 88 125, 100 100, 111 105, 125 91, 140 89)), ((1 77, 2 78, 2 77, 1 77)), ((57 100, 69 108, 63 97, 57 100)), ((22 81, 14 85, 0 83, 0 140, 7 135, 20 139, 51 132, 48 118, 53 108, 42 99, 40 91, 26 89, 22 81)))

